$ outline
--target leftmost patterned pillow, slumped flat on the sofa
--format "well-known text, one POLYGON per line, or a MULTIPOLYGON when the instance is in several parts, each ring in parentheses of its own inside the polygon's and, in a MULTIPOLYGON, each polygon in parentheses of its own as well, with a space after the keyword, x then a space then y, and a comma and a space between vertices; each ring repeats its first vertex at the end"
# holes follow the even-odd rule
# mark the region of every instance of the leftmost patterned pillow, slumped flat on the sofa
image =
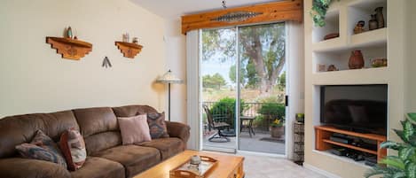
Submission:
POLYGON ((67 168, 67 163, 62 157, 57 144, 48 135, 43 134, 42 130, 36 131, 31 143, 21 143, 15 148, 25 159, 51 161, 67 168))

